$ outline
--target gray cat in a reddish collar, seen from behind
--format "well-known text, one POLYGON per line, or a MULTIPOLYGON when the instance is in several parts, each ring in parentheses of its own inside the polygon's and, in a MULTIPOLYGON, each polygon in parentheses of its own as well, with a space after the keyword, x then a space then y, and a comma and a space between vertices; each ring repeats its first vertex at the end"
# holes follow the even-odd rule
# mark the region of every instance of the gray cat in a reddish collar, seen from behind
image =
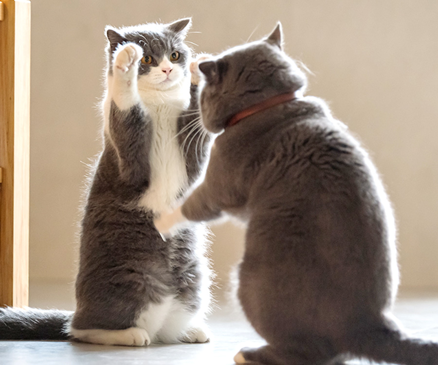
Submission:
POLYGON ((267 38, 202 62, 201 115, 221 133, 205 180, 155 221, 230 214, 247 223, 238 297, 267 341, 238 364, 340 364, 351 357, 437 365, 438 344, 391 315, 399 282, 393 212, 365 150, 267 38))

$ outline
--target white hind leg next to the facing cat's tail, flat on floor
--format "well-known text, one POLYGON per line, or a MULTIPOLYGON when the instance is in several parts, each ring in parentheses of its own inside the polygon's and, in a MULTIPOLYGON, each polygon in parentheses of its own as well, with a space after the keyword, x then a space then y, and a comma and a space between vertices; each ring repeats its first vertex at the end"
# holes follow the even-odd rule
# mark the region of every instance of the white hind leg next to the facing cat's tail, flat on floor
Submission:
POLYGON ((76 340, 98 345, 148 346, 150 337, 146 329, 70 329, 76 340))

